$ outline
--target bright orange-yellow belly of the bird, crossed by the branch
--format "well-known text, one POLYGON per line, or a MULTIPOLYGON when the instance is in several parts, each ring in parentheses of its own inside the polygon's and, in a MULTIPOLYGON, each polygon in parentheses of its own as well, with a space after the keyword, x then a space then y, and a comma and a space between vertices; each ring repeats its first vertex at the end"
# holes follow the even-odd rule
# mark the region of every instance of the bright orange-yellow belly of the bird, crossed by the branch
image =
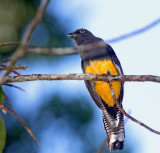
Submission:
MULTIPOLYGON (((85 69, 86 74, 107 74, 109 71, 111 75, 118 75, 118 72, 112 63, 111 60, 95 60, 90 63, 91 65, 88 65, 85 69)), ((109 87, 109 84, 103 81, 94 81, 96 83, 95 85, 95 91, 96 93, 105 101, 105 103, 109 107, 113 107, 115 102, 111 95, 111 90, 109 87)), ((120 82, 112 82, 113 90, 115 93, 116 98, 118 99, 120 95, 120 88, 121 83, 120 82)))

